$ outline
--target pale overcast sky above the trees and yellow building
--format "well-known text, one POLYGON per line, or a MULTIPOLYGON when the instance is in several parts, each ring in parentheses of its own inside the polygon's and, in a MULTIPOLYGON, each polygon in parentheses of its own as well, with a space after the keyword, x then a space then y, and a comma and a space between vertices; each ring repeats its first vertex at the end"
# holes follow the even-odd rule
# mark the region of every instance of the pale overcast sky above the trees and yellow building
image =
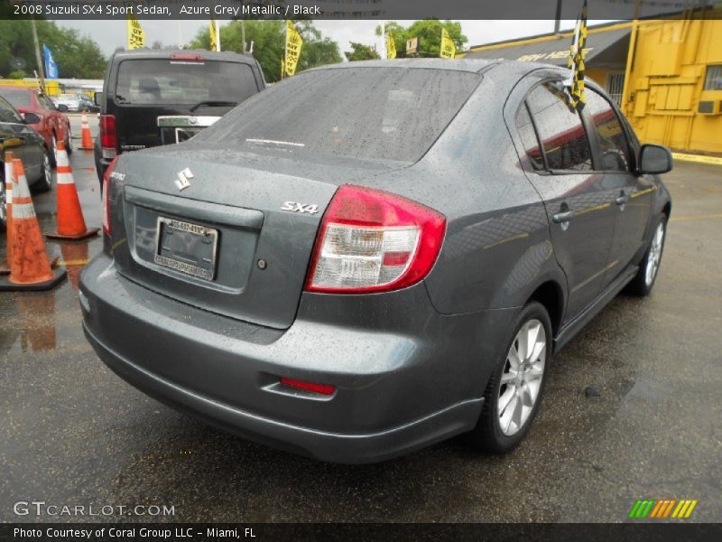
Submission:
MULTIPOLYGON (((412 21, 397 21, 406 26, 412 21)), ((110 55, 118 47, 125 47, 125 21, 56 21, 60 26, 75 28, 97 42, 100 49, 110 55)), ((208 21, 151 21, 141 20, 148 45, 160 41, 164 45, 187 43, 196 35, 200 27, 208 21)), ((349 50, 349 42, 373 45, 376 38, 374 31, 378 21, 314 21, 315 26, 326 37, 338 43, 341 52, 349 50)), ((561 29, 570 29, 574 21, 562 21, 561 29)), ((589 21, 589 24, 599 23, 589 21)), ((223 23, 221 23, 223 24, 223 23)), ((499 42, 554 30, 553 21, 461 21, 463 33, 467 35, 467 47, 490 42, 499 42)), ((221 43, 223 47, 223 43, 221 43)))

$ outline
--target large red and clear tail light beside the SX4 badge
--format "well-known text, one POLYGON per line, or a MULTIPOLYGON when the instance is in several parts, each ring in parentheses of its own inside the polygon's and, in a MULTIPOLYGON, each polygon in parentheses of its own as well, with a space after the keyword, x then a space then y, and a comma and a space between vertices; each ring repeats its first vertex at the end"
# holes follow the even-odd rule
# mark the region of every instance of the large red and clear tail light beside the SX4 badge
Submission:
POLYGON ((306 290, 366 294, 419 282, 439 256, 446 218, 388 192, 346 184, 324 214, 306 290))

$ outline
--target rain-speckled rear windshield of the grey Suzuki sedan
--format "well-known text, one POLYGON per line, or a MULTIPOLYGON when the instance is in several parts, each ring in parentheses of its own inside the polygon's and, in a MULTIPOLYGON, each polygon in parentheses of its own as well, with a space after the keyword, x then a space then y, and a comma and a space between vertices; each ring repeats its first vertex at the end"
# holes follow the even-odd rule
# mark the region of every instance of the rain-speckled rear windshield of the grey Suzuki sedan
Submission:
POLYGON ((236 107, 196 140, 259 151, 416 162, 477 87, 454 70, 301 73, 236 107))

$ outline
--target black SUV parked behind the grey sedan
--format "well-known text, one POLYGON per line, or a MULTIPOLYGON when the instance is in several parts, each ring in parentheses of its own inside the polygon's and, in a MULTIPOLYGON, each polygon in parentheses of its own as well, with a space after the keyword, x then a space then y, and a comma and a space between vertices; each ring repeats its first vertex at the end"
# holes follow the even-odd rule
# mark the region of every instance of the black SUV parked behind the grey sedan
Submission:
POLYGON ((265 88, 250 55, 164 50, 116 52, 97 93, 98 180, 117 154, 180 143, 265 88))

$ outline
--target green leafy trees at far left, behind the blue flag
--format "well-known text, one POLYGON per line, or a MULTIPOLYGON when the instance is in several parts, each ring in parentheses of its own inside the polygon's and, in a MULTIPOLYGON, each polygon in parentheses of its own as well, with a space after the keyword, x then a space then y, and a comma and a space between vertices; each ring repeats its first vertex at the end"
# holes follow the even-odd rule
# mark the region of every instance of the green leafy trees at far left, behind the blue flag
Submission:
MULTIPOLYGON (((60 28, 51 21, 36 21, 38 40, 46 44, 58 64, 62 78, 100 79, 106 58, 97 43, 77 30, 60 28)), ((0 75, 17 70, 14 61, 24 62, 23 70, 37 70, 30 21, 0 20, 0 75)))

